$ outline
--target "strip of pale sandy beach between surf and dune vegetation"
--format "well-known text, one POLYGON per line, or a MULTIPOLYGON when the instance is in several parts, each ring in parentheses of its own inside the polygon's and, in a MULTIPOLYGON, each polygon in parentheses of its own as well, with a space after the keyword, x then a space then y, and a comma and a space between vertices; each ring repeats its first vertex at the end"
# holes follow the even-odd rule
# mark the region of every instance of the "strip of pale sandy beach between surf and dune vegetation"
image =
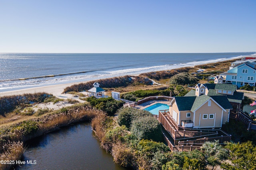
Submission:
MULTIPOLYGON (((234 59, 239 59, 240 57, 236 57, 233 59, 228 59, 228 60, 224 60, 224 61, 232 61, 234 59)), ((218 62, 222 62, 222 61, 216 61, 213 63, 205 63, 205 64, 214 64, 214 63, 218 63, 218 62)), ((202 65, 202 64, 199 64, 202 65)), ((195 65, 195 66, 188 66, 188 67, 197 67, 199 65, 195 65)), ((186 66, 187 67, 187 66, 186 66)), ((178 67, 178 68, 174 68, 171 70, 175 70, 175 69, 179 69, 179 68, 185 68, 184 66, 178 67)), ((164 70, 167 71, 167 70, 164 70)), ((160 71, 156 71, 156 72, 160 72, 160 71)), ((148 72, 145 72, 148 73, 148 72)), ((120 76, 138 76, 140 74, 125 74, 125 75, 120 75, 120 76)), ((120 77, 120 76, 113 76, 113 77, 120 77)), ((113 77, 106 77, 106 78, 113 78, 113 77)), ((100 80, 101 78, 95 79, 94 81, 100 80)), ((105 79, 105 78, 103 78, 105 79)), ((80 83, 86 83, 89 81, 93 81, 93 80, 81 80, 78 82, 69 82, 69 83, 63 83, 63 84, 52 84, 52 85, 42 85, 42 86, 37 86, 37 87, 28 87, 28 88, 22 88, 22 89, 18 89, 18 90, 9 90, 9 91, 5 91, 5 92, 0 92, 0 97, 3 96, 12 96, 12 95, 22 95, 22 94, 27 94, 27 93, 38 93, 38 92, 46 92, 49 94, 52 94, 56 97, 59 98, 67 98, 70 97, 70 94, 64 94, 62 92, 64 92, 64 89, 68 86, 72 86, 74 84, 80 84, 80 83)))

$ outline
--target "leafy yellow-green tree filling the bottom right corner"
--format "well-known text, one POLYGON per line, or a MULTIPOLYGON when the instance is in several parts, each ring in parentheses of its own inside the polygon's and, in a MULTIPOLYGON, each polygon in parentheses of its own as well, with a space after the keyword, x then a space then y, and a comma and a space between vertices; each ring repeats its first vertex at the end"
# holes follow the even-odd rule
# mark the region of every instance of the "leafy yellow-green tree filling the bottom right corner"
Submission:
POLYGON ((230 163, 223 163, 221 168, 226 170, 255 170, 256 169, 256 147, 251 141, 246 143, 227 143, 230 163))

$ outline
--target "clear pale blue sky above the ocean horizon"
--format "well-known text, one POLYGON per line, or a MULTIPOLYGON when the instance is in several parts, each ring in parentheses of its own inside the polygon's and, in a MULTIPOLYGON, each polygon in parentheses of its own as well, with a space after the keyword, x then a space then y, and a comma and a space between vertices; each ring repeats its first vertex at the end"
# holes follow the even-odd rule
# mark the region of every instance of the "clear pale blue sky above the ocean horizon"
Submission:
POLYGON ((256 0, 0 0, 0 53, 256 51, 256 0))

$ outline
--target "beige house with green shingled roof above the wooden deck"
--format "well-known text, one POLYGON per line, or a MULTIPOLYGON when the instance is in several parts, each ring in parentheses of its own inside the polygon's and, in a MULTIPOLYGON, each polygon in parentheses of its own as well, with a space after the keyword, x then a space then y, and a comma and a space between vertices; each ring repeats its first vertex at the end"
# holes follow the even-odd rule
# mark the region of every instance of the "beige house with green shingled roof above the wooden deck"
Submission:
POLYGON ((174 97, 170 102, 169 113, 181 127, 215 128, 229 121, 232 106, 226 96, 202 94, 206 88, 194 96, 174 97))

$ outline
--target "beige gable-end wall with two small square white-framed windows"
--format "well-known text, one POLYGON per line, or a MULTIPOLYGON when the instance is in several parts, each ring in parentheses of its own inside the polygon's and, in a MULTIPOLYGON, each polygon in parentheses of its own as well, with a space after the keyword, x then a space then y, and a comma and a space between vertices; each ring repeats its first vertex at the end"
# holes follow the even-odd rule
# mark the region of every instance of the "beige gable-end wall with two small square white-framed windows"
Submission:
MULTIPOLYGON (((211 100, 212 101, 212 100, 211 100)), ((206 102, 198 110, 195 111, 194 126, 195 127, 221 127, 222 120, 222 108, 215 102, 211 102, 211 106, 208 106, 206 102), (203 115, 207 115, 207 119, 203 119, 203 115), (210 114, 214 115, 213 119, 210 119, 210 114), (215 125, 214 125, 215 120, 215 125)))

